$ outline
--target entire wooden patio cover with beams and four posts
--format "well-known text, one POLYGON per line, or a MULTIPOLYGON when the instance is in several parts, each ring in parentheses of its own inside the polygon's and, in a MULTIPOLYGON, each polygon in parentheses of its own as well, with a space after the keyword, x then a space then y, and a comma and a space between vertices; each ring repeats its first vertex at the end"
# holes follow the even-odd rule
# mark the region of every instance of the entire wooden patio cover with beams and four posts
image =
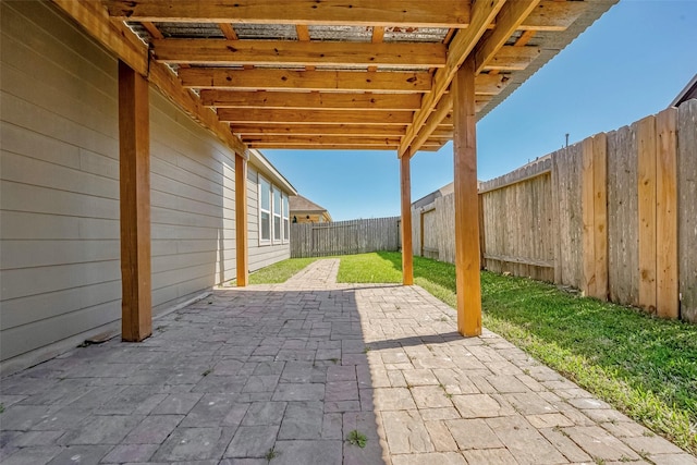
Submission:
MULTIPOLYGON (((476 121, 616 0, 52 1, 120 60, 123 339, 139 341, 151 331, 148 84, 235 151, 241 192, 249 148, 394 150, 406 285, 409 160, 454 140, 457 328, 477 335, 476 121)), ((244 196, 236 216, 246 224, 244 196)), ((236 237, 246 285, 246 228, 236 237)))

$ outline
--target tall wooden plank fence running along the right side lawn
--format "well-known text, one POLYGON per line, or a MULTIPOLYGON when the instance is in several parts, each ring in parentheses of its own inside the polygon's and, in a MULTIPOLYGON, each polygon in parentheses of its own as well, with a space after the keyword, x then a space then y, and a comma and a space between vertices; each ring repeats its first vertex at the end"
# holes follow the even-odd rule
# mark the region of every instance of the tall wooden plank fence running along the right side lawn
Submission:
MULTIPOLYGON (((479 204, 482 267, 697 322, 697 100, 482 183, 479 204)), ((454 261, 452 195, 412 213, 414 254, 454 261)))

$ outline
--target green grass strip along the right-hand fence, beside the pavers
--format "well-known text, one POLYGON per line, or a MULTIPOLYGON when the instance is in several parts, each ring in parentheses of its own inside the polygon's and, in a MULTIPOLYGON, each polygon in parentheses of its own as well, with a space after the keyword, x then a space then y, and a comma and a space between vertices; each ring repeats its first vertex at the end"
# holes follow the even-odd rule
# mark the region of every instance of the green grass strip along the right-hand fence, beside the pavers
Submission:
MULTIPOLYGON (((340 282, 402 282, 399 253, 340 258, 340 282)), ((453 265, 414 257, 414 281, 455 306, 453 265)), ((697 326, 490 272, 481 292, 488 329, 697 453, 697 326)))

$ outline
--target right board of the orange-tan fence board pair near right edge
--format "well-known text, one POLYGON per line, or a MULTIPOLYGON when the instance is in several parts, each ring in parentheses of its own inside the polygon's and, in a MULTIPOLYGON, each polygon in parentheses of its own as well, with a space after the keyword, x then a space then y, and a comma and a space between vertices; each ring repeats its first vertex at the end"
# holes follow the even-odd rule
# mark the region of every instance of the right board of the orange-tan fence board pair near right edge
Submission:
POLYGON ((677 109, 656 117, 656 305, 661 318, 678 317, 677 290, 677 109))

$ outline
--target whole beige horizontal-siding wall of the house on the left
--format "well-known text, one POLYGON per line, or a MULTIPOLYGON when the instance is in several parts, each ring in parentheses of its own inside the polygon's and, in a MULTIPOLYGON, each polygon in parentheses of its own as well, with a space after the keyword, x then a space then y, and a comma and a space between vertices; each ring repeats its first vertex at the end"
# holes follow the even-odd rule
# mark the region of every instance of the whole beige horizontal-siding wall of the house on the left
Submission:
MULTIPOLYGON (((0 9, 0 360, 38 359, 120 329, 118 62, 47 2, 0 9)), ((234 154, 152 89, 150 132, 157 314, 235 277, 234 154)), ((290 255, 254 243, 256 175, 250 269, 290 255)))

